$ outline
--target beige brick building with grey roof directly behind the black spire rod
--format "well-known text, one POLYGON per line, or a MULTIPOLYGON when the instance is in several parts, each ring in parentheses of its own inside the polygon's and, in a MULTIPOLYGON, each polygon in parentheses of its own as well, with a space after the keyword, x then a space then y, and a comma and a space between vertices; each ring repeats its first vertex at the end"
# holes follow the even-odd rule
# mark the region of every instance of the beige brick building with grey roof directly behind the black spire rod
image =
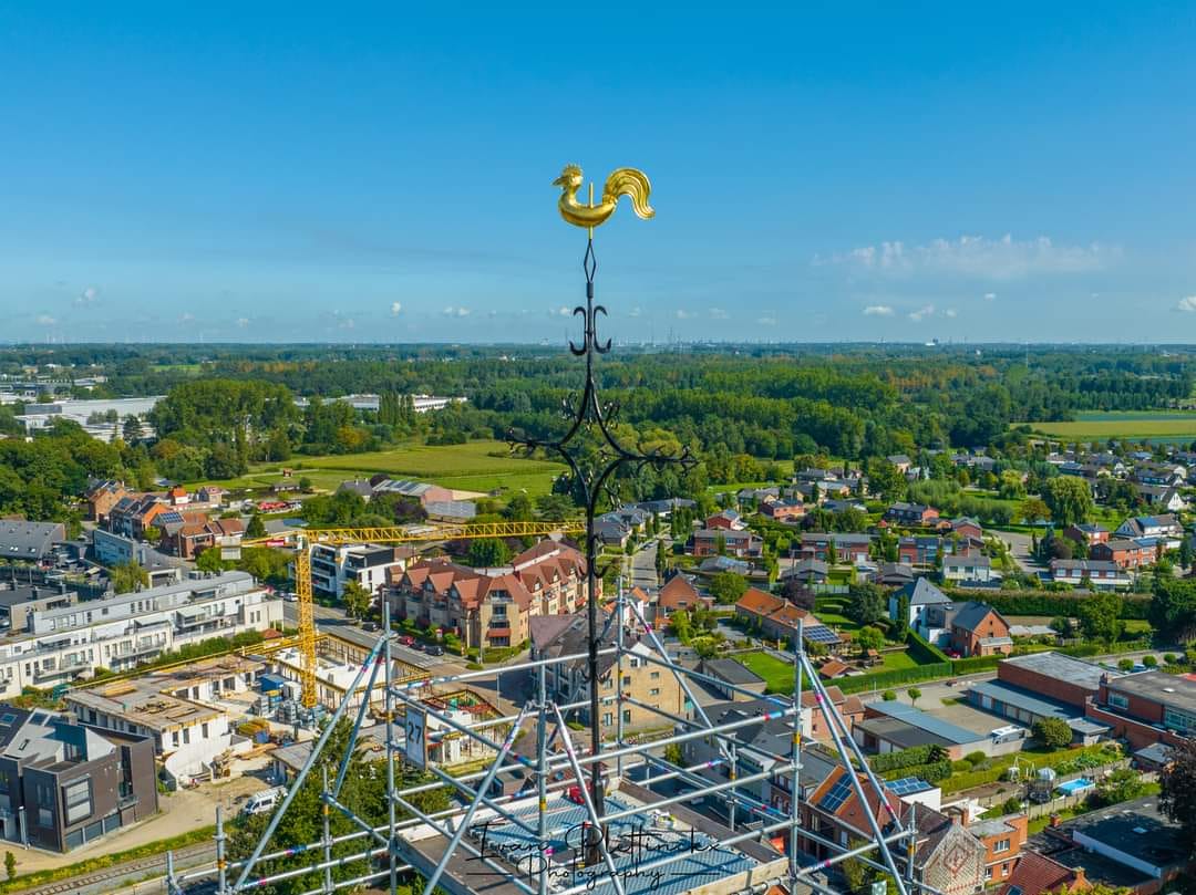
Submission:
MULTIPOLYGON (((602 639, 604 648, 615 644, 617 632, 606 630, 602 639)), ((531 657, 533 661, 559 658, 561 656, 584 655, 588 649, 588 629, 585 613, 570 615, 536 617, 531 624, 531 657)), ((676 675, 653 661, 658 658, 655 650, 648 644, 639 626, 628 626, 623 633, 624 654, 621 661, 622 679, 615 680, 616 664, 614 655, 599 656, 597 718, 602 736, 612 737, 620 719, 615 713, 617 707, 616 687, 624 697, 659 709, 670 715, 685 717, 689 711, 681 683, 676 675)), ((554 662, 548 670, 550 695, 557 703, 572 704, 585 701, 586 706, 575 710, 584 724, 591 724, 588 699, 590 683, 586 670, 588 660, 579 658, 568 662, 554 662)), ((661 716, 651 709, 641 707, 630 701, 623 703, 622 728, 624 731, 636 731, 659 727, 661 716)))

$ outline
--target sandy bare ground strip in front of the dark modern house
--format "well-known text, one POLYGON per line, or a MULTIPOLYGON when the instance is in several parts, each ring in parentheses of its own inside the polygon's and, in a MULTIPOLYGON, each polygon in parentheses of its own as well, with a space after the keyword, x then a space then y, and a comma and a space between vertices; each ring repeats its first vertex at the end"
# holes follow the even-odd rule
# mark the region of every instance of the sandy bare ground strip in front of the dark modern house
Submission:
POLYGON ((22 848, 16 844, 6 844, 7 851, 11 851, 17 858, 18 873, 32 873, 38 870, 78 864, 89 858, 128 851, 140 845, 182 835, 193 829, 209 827, 215 823, 218 804, 224 807, 225 816, 231 817, 237 810, 234 801, 238 796, 263 789, 264 785, 252 777, 237 777, 218 784, 206 784, 197 790, 179 790, 169 796, 159 795, 159 813, 153 817, 66 854, 22 848))

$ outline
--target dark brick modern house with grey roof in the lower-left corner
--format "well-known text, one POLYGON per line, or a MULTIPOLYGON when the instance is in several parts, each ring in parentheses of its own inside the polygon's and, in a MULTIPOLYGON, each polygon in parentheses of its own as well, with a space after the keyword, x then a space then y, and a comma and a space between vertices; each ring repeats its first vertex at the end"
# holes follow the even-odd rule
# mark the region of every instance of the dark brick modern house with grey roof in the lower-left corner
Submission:
POLYGON ((158 813, 153 743, 0 705, 0 835, 67 852, 158 813))

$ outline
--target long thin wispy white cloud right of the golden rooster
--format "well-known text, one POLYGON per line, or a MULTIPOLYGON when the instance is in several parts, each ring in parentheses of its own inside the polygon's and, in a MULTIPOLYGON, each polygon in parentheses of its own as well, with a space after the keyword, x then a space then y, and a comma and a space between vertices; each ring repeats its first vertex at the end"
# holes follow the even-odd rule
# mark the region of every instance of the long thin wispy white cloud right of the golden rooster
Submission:
MULTIPOLYGON (((907 246, 899 240, 862 246, 829 258, 816 256, 816 265, 848 265, 885 276, 954 274, 989 280, 1015 280, 1035 274, 1079 274, 1104 268, 1121 255, 1116 246, 1056 245, 1049 237, 1017 240, 960 237, 907 246)), ((988 298, 986 295, 986 298, 988 298)), ((996 298, 995 295, 993 298, 996 298)))

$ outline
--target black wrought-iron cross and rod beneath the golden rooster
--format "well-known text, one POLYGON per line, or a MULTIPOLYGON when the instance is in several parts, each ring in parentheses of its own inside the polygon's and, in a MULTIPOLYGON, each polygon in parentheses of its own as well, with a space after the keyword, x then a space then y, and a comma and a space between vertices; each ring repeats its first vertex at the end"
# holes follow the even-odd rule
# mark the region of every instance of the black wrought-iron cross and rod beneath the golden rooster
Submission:
MULTIPOLYGON (((570 421, 566 434, 556 441, 541 439, 518 437, 514 433, 508 435, 513 447, 523 448, 531 453, 537 448, 560 455, 569 467, 570 479, 575 492, 580 495, 582 509, 586 515, 586 617, 588 631, 588 662, 587 681, 590 685, 590 748, 592 754, 602 752, 602 716, 600 701, 598 699, 598 651, 602 646, 602 626, 598 624, 598 538, 594 534, 594 517, 598 515, 598 504, 603 495, 608 495, 614 503, 617 496, 611 488, 611 477, 618 472, 624 464, 631 464, 639 472, 645 466, 660 468, 666 464, 679 464, 688 471, 697 465, 689 448, 685 447, 679 454, 666 454, 663 450, 654 450, 651 454, 642 454, 626 447, 610 428, 610 422, 618 412, 615 404, 603 406, 599 399, 598 382, 594 376, 594 360, 598 355, 610 351, 611 342, 598 341, 598 314, 606 314, 606 308, 594 304, 594 274, 598 272, 598 258, 594 255, 593 235, 586 241, 586 253, 581 262, 581 269, 586 275, 586 304, 573 308, 573 315, 581 315, 584 320, 581 345, 569 341, 569 350, 575 357, 586 358, 586 378, 581 398, 574 406, 565 404, 565 412, 570 421), (582 464, 581 452, 574 445, 574 440, 582 430, 588 430, 597 436, 599 442, 597 461, 588 467, 582 464)), ((622 681, 616 681, 616 686, 622 686, 622 681)), ((600 762, 594 761, 591 766, 590 791, 593 796, 594 808, 600 819, 604 813, 605 799, 602 780, 600 762)), ((579 783, 581 783, 579 780, 579 783)), ((596 864, 600 860, 598 844, 605 835, 604 829, 594 829, 587 840, 585 863, 596 864)))

